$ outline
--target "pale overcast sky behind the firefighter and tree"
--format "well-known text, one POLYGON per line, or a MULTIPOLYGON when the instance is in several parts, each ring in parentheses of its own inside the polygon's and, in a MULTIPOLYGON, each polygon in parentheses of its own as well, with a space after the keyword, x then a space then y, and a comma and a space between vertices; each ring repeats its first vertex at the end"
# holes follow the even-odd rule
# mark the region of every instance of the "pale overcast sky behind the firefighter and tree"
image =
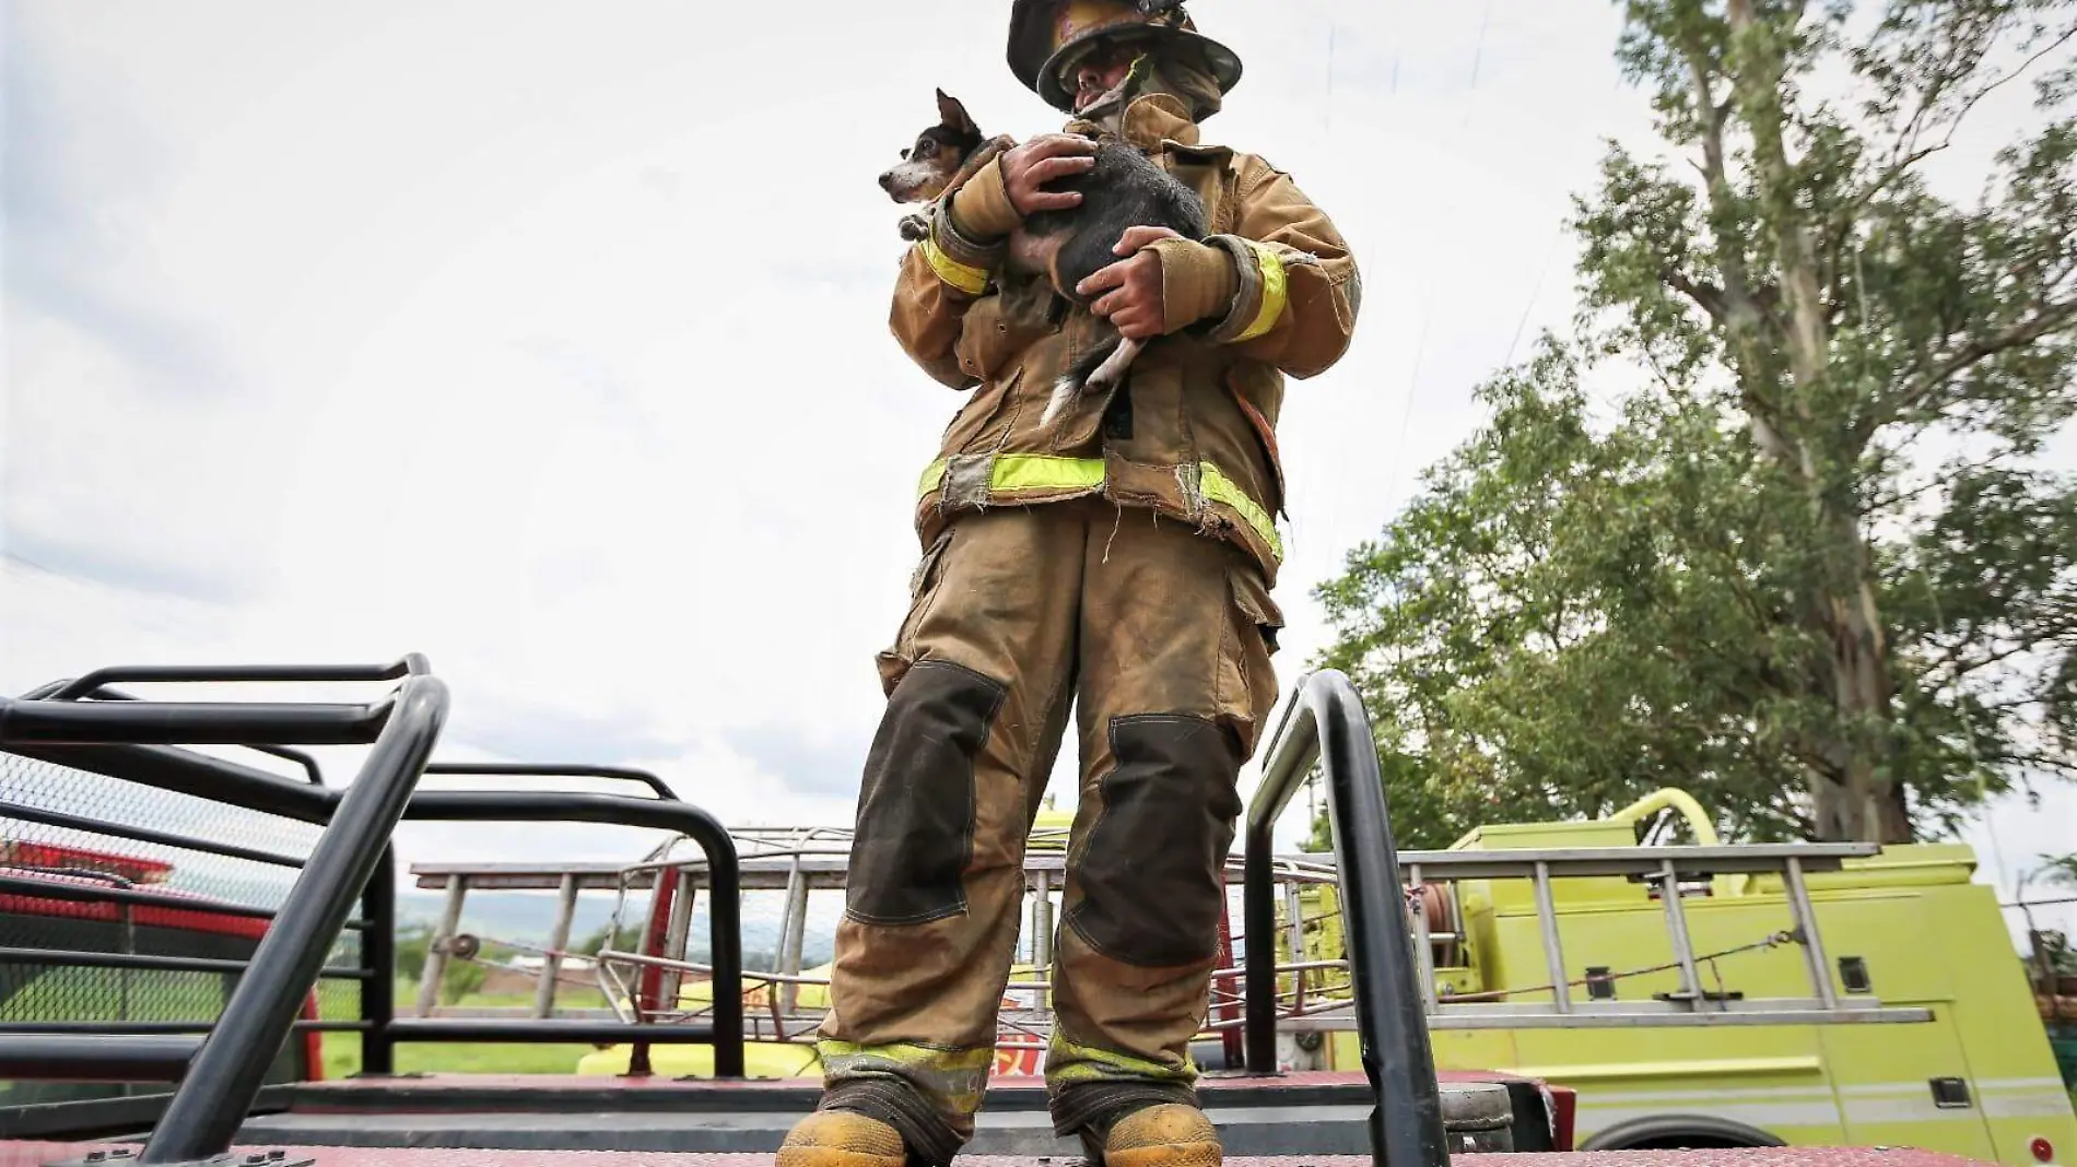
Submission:
MULTIPOLYGON (((1007 4, 0 8, 0 687, 426 652, 442 756, 849 822, 960 403, 887 334, 874 177, 939 85, 989 133, 1057 127, 1003 64, 1007 4)), ((1311 588, 1570 316, 1568 197, 1649 120, 1603 0, 1196 19, 1246 60, 1207 139, 1290 170, 1365 270, 1352 351, 1282 426, 1288 687, 1325 644, 1311 588)), ((2077 799, 1996 824, 2021 868, 2077 799)))

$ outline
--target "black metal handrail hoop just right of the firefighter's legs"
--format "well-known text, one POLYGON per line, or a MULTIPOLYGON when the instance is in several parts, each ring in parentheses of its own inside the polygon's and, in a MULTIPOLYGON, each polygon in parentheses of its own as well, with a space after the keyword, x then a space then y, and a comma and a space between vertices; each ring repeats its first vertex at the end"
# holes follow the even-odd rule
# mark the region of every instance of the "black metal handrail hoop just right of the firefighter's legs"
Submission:
POLYGON ((1408 939, 1377 741, 1356 685, 1333 669, 1302 677, 1265 758, 1246 831, 1248 1069, 1273 1074, 1277 1063, 1273 833, 1298 785, 1319 762, 1327 777, 1336 878, 1342 918, 1348 922, 1363 1074, 1377 1098, 1369 1117, 1371 1159, 1381 1167, 1444 1167, 1450 1152, 1435 1053, 1421 1013, 1419 966, 1408 939), (1257 947, 1267 951, 1255 951, 1257 947))

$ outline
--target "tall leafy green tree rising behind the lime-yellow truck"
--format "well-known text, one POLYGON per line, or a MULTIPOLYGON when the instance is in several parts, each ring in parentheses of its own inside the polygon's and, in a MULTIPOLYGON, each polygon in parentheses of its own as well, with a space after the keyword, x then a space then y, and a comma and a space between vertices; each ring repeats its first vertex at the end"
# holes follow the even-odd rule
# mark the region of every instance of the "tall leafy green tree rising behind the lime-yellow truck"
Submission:
POLYGON ((1676 781, 1751 837, 1907 841, 2077 775, 2077 490, 2029 465, 2077 411, 2077 4, 1624 15, 1691 168, 1610 145, 1576 341, 1483 386, 1493 422, 1321 590, 1396 818, 1676 781), (1936 197, 2021 71, 2042 125, 1975 208, 1936 197), (1618 363, 1645 384, 1597 419, 1581 378, 1618 363))

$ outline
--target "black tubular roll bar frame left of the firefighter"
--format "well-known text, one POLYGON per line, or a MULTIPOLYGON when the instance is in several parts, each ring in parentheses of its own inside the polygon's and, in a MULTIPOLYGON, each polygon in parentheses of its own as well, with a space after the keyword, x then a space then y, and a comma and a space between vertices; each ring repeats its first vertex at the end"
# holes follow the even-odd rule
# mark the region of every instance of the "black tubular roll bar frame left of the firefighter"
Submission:
MULTIPOLYGON (((243 970, 237 990, 214 1026, 135 1024, 127 1030, 77 1026, 0 1024, 0 1067, 27 1076, 60 1067, 66 1076, 104 1080, 179 1082, 139 1163, 197 1163, 222 1155, 243 1123, 272 1051, 291 1032, 361 1032, 363 1074, 390 1074, 399 1040, 636 1040, 700 1042, 714 1049, 717 1078, 744 1076, 741 1001, 741 870, 735 841, 708 812, 679 802, 675 791, 646 770, 623 766, 542 764, 432 764, 432 743, 447 716, 447 687, 424 658, 388 667, 260 667, 260 669, 102 669, 0 698, 0 748, 6 752, 93 770, 114 779, 174 791, 208 802, 276 814, 326 826, 307 860, 274 856, 147 829, 102 824, 81 816, 0 804, 0 814, 66 829, 102 831, 233 858, 301 868, 287 901, 249 961, 220 961, 212 970, 243 970), (208 704, 143 702, 108 689, 114 681, 368 681, 403 679, 382 702, 355 704, 208 704), (100 696, 108 700, 79 700, 100 696), (191 743, 289 745, 374 743, 361 775, 345 789, 316 779, 291 781, 239 762, 183 750, 191 743), (594 777, 631 781, 654 797, 559 791, 417 791, 432 775, 482 777, 594 777), (444 1022, 395 1017, 393 976, 397 872, 390 835, 401 818, 469 822, 602 822, 648 826, 692 837, 706 856, 712 905, 710 966, 714 1003, 710 1024, 586 1024, 586 1022, 444 1022), (361 907, 361 968, 326 970, 332 939, 361 907), (320 976, 361 980, 359 1022, 301 1022, 297 1007, 320 976), (187 1036, 206 1028, 206 1038, 187 1036), (37 1069, 29 1074, 31 1069, 37 1069)), ((293 756, 287 750, 272 750, 293 756)), ((52 889, 37 887, 42 895, 52 889)), ((106 893, 96 893, 108 899, 106 893)), ((156 899, 156 897, 154 897, 156 899)), ((172 903, 168 903, 172 907, 172 903)), ((218 903, 181 907, 262 916, 218 903)), ((6 953, 0 953, 4 957, 6 953)), ((17 953, 21 955, 21 953, 17 953)), ((29 953, 50 957, 54 953, 29 953)), ((62 955, 62 953, 58 953, 62 955)), ((104 957, 96 955, 93 964, 104 957)), ((145 957, 164 959, 164 957, 145 957)))

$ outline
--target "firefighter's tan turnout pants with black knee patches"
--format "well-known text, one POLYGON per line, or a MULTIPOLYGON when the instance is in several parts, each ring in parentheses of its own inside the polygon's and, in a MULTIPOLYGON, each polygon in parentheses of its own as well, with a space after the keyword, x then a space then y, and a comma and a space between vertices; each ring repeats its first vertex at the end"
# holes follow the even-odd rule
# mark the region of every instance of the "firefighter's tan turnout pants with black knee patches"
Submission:
POLYGON ((924 1161, 972 1138, 1070 702, 1082 766, 1053 945, 1053 1121, 1086 1132, 1194 1101, 1188 1042, 1279 623, 1250 559, 1144 509, 1003 507, 945 532, 881 654, 825 1107, 895 1123, 924 1161))

